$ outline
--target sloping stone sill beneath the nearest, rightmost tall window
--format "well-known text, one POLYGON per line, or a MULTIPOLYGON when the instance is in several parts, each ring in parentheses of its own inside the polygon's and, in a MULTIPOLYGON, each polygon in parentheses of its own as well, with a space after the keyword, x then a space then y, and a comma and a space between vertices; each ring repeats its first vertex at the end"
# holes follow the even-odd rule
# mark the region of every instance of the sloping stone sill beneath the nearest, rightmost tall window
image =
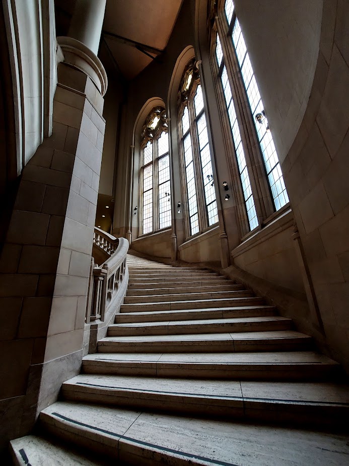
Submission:
POLYGON ((294 216, 290 204, 286 204, 282 209, 270 215, 264 222, 263 227, 244 239, 242 243, 231 252, 231 257, 235 258, 245 253, 254 246, 269 240, 273 236, 289 228, 294 224, 294 216))

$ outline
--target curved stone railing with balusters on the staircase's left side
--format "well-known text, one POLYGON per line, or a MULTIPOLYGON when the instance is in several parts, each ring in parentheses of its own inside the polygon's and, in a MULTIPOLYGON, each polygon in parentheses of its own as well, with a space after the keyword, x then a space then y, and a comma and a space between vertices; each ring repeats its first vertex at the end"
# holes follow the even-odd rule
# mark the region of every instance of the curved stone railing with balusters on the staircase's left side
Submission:
POLYGON ((102 265, 91 260, 90 281, 86 306, 89 329, 89 352, 94 352, 99 338, 103 338, 109 321, 120 309, 128 284, 126 254, 128 241, 114 238, 95 228, 93 242, 110 254, 102 265))

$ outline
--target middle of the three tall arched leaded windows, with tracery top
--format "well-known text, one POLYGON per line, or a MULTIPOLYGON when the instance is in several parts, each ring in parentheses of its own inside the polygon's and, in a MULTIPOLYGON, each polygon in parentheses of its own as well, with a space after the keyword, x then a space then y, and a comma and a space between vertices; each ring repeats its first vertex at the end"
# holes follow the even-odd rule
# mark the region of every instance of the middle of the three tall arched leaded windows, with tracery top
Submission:
POLYGON ((200 77, 192 60, 178 92, 186 237, 218 222, 216 193, 200 77))

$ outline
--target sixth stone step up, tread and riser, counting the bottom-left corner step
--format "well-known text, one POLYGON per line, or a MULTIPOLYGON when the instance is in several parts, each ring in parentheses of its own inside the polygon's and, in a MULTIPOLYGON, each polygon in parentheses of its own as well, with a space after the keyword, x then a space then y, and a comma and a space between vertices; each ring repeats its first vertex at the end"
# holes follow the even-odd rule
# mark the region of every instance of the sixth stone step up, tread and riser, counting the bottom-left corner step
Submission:
POLYGON ((180 335, 198 333, 254 332, 292 330, 292 319, 286 317, 245 317, 175 322, 135 322, 113 324, 108 336, 180 335))

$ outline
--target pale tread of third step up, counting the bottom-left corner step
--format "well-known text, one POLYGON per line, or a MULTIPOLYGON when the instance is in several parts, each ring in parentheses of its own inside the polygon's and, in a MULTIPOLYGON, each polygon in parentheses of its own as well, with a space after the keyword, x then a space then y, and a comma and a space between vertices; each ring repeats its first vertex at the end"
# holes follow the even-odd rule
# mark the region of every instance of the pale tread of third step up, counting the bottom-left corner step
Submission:
POLYGON ((207 379, 157 378, 80 374, 63 383, 64 388, 77 386, 103 391, 121 389, 136 392, 163 393, 168 396, 257 399, 260 401, 287 401, 292 403, 336 403, 349 405, 346 384, 327 382, 269 382, 207 379), (82 385, 84 384, 84 385, 82 385))

